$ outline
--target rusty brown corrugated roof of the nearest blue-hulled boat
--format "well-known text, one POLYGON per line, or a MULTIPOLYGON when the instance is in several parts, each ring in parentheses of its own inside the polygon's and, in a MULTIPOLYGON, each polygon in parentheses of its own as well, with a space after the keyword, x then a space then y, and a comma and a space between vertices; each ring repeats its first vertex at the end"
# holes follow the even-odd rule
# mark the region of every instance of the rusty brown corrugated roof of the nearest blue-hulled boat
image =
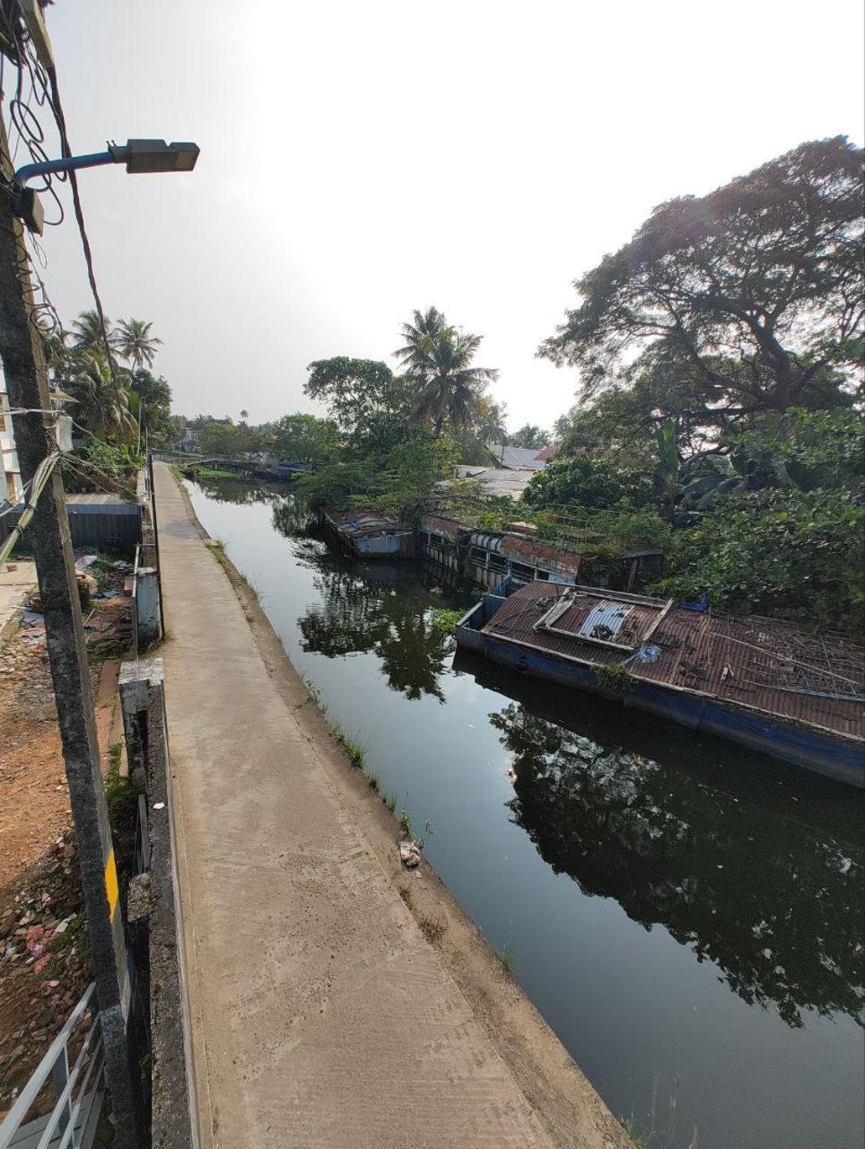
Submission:
POLYGON ((585 664, 865 738, 865 647, 777 619, 717 616, 672 600, 535 581, 484 632, 585 664))

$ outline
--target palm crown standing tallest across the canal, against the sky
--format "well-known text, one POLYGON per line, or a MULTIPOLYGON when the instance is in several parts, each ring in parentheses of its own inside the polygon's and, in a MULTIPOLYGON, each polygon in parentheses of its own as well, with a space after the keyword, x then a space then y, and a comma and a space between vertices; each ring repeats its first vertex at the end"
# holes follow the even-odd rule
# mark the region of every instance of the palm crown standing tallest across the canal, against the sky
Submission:
POLYGON ((457 331, 437 308, 415 311, 414 321, 402 325, 406 344, 394 352, 415 386, 410 419, 432 423, 437 435, 446 422, 463 431, 477 417, 484 388, 499 372, 471 365, 482 337, 457 331))

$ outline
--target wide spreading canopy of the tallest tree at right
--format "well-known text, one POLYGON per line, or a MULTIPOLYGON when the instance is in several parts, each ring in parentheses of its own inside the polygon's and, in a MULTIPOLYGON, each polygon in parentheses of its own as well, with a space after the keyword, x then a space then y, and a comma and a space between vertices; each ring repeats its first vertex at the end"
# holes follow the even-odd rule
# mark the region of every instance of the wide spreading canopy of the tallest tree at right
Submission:
POLYGON ((862 193, 862 152, 836 137, 663 203, 577 282, 540 354, 579 368, 584 398, 642 350, 640 370, 686 364, 743 414, 843 402, 863 350, 862 193))

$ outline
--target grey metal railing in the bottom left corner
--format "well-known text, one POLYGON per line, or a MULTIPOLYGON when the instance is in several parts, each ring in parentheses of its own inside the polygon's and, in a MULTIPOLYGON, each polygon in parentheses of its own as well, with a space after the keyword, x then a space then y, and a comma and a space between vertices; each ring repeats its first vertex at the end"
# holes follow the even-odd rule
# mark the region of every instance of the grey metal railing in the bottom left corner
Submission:
POLYGON ((37 1070, 0 1125, 0 1149, 90 1149, 105 1101, 102 1031, 96 1009, 95 981, 69 1015, 37 1070), (70 1043, 80 1040, 79 1023, 91 1013, 75 1064, 69 1067, 70 1043), (47 1082, 56 1101, 49 1113, 25 1120, 47 1082))

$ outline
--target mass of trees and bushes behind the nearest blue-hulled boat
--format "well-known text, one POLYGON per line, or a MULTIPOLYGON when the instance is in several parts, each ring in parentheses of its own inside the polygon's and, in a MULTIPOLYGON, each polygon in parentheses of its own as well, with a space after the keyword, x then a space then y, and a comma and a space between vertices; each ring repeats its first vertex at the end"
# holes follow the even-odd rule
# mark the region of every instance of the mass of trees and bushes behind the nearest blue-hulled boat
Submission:
POLYGON ((579 280, 540 352, 580 370, 579 401, 525 502, 587 580, 657 547, 650 591, 859 632, 860 163, 803 144, 662 205, 579 280))

